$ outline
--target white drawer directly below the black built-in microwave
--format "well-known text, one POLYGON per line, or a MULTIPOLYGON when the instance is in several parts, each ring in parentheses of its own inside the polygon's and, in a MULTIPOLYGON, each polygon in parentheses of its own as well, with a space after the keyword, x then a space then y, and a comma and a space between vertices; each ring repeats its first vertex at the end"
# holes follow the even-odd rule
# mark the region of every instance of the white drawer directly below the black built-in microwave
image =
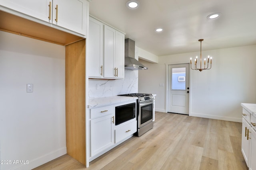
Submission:
POLYGON ((115 143, 118 143, 122 139, 134 134, 137 131, 137 121, 133 121, 127 125, 119 127, 115 130, 115 143))

